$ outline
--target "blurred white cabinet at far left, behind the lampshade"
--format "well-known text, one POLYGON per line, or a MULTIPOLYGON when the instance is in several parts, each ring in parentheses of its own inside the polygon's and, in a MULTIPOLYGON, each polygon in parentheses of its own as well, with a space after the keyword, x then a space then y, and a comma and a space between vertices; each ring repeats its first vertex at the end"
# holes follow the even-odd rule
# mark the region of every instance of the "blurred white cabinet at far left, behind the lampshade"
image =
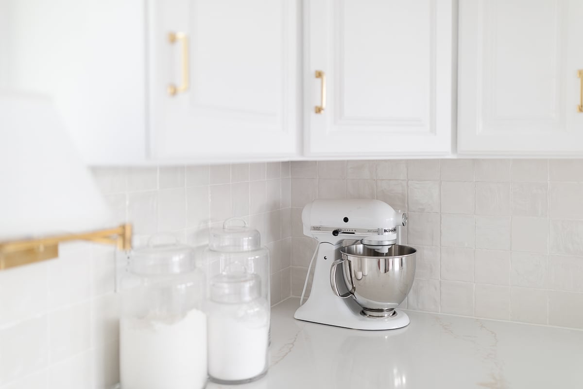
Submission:
POLYGON ((0 0, 0 90, 52 97, 87 163, 141 163, 144 18, 142 0, 0 0))

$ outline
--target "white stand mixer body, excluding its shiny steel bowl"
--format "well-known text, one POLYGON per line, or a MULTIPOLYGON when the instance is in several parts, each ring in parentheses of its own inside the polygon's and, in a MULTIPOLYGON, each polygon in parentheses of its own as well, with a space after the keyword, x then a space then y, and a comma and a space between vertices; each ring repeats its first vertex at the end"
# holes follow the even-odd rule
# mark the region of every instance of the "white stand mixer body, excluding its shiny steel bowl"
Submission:
MULTIPOLYGON (((341 295, 335 281, 337 273, 338 275, 342 273, 346 277, 345 271, 336 272, 336 267, 340 262, 346 261, 346 259, 339 259, 344 240, 360 240, 366 246, 366 250, 374 249, 370 251, 379 253, 377 255, 382 257, 385 255, 382 253, 387 253, 398 243, 398 226, 406 224, 405 213, 396 212, 390 205, 373 199, 318 199, 304 207, 301 219, 304 234, 317 239, 318 248, 310 297, 296 310, 294 314, 296 319, 357 330, 392 330, 409 324, 409 317, 403 311, 392 308, 405 299, 410 285, 405 286, 405 293, 399 296, 401 301, 390 305, 390 315, 376 317, 364 313, 366 309, 363 311, 363 306, 357 302, 359 296, 354 292, 354 282, 350 275, 347 279, 352 282, 352 291, 349 290, 341 295)), ((415 250, 409 249, 413 253, 410 254, 412 265, 409 269, 412 268, 414 274, 415 250)), ((345 257, 345 255, 342 256, 345 257)), ((368 258, 374 260, 372 257, 368 258)), ((397 259, 401 260, 402 265, 403 258, 397 259)), ((366 258, 363 257, 363 260, 366 258)), ((392 271, 393 265, 390 266, 392 271)), ((352 267, 350 269, 352 272, 352 267)), ((389 265, 387 265, 388 270, 389 265)), ((401 272, 403 272, 402 268, 401 272)), ((360 278, 356 275, 356 279, 362 279, 362 272, 358 273, 360 273, 360 278)), ((408 275, 408 277, 412 283, 413 275, 408 275)), ((337 278, 342 279, 340 276, 337 278)), ((382 285, 379 287, 384 288, 382 285)), ((356 286, 356 289, 358 288, 359 286, 356 286)))

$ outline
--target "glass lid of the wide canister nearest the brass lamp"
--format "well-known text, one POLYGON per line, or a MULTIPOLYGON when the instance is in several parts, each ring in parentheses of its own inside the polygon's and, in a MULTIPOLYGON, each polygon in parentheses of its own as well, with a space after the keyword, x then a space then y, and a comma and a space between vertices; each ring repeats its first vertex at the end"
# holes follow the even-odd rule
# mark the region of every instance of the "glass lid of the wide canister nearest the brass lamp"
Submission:
POLYGON ((175 237, 164 242, 159 239, 160 236, 153 236, 148 240, 147 246, 132 251, 129 257, 130 272, 167 275, 195 270, 195 255, 191 246, 179 244, 175 237))

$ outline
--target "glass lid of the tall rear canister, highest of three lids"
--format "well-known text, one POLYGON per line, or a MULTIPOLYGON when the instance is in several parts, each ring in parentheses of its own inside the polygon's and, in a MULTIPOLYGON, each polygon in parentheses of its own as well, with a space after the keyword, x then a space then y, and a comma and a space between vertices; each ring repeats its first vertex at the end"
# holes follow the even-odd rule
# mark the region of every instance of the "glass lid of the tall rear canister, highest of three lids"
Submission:
POLYGON ((224 221, 222 228, 210 230, 210 250, 235 253, 257 250, 260 247, 261 234, 247 226, 244 219, 230 218, 224 221))

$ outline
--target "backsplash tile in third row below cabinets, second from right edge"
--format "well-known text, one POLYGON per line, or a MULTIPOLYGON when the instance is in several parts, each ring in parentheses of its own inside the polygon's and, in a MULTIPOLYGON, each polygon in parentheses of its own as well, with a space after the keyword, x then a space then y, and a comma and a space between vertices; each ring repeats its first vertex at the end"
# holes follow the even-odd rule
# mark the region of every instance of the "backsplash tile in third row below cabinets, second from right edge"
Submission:
POLYGON ((549 219, 512 218, 512 251, 547 253, 549 219))

